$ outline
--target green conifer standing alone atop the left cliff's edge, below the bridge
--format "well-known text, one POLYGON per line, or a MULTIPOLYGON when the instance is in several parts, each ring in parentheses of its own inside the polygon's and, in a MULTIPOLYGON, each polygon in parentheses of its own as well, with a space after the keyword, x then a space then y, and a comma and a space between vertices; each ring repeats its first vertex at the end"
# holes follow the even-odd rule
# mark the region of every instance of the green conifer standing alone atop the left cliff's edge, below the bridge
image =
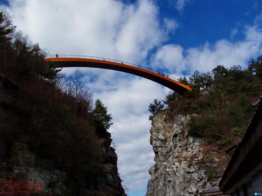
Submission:
POLYGON ((95 123, 97 127, 104 127, 105 129, 108 129, 113 124, 110 123, 112 120, 112 114, 107 113, 107 107, 100 99, 97 99, 95 102, 93 114, 95 115, 95 123))

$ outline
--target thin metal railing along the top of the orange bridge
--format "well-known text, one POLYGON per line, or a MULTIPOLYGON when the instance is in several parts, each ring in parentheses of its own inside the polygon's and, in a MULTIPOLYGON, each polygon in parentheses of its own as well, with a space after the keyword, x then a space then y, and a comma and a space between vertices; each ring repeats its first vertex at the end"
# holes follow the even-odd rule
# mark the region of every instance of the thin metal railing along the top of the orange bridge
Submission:
MULTIPOLYGON (((46 58, 57 58, 56 55, 46 55, 46 58)), ((110 58, 102 58, 102 57, 92 57, 92 56, 83 56, 83 55, 67 55, 67 54, 59 54, 58 55, 58 58, 87 58, 87 59, 95 59, 95 60, 102 60, 102 61, 109 61, 109 62, 115 62, 115 63, 121 63, 121 64, 125 64, 125 65, 129 65, 129 66, 133 66, 133 67, 137 67, 137 68, 141 68, 141 69, 145 69, 145 70, 148 70, 148 71, 151 71, 151 72, 154 72, 154 73, 158 73, 162 76, 165 76, 165 77, 168 77, 172 80, 175 80, 177 82, 180 82, 178 79, 176 78, 173 78, 169 75, 166 75, 164 73, 160 73, 159 71, 155 71, 154 69, 150 69, 150 68, 146 68, 146 67, 143 67, 141 65, 136 65, 136 64, 133 64, 133 63, 128 63, 128 62, 124 62, 124 61, 118 61, 118 60, 115 60, 115 59, 110 59, 110 58)), ((181 83, 181 82, 180 82, 181 83)), ((183 83, 183 82, 182 82, 183 83)), ((185 83, 183 83, 185 84, 185 83)), ((186 84, 185 84, 186 85, 186 84)))

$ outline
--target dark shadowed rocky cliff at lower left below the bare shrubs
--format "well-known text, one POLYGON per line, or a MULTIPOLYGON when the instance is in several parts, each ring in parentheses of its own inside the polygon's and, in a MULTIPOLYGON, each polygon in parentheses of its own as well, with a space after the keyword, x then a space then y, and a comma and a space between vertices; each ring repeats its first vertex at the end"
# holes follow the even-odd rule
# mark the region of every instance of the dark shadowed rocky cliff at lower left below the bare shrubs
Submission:
MULTIPOLYGON (((0 119, 4 119, 6 113, 0 107, 0 119)), ((41 195, 126 195, 118 175, 117 154, 110 147, 110 136, 106 131, 97 135, 101 144, 99 165, 88 175, 76 175, 74 168, 61 168, 54 164, 52 160, 37 153, 37 149, 23 143, 23 135, 18 141, 0 138, 0 193, 31 191, 41 195), (2 186, 5 189, 2 190, 2 186)), ((56 148, 55 145, 53 148, 56 148)))

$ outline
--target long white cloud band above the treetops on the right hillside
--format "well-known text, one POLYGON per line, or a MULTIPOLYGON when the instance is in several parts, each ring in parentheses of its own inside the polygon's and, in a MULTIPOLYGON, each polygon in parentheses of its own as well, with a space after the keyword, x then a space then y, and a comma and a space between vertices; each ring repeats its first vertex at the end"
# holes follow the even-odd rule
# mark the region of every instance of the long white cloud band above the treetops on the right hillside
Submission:
POLYGON ((262 30, 258 26, 246 26, 245 29, 245 39, 238 42, 222 39, 214 44, 206 43, 188 49, 180 45, 164 45, 158 49, 151 62, 154 68, 166 68, 177 74, 183 71, 192 73, 196 69, 207 72, 219 64, 225 67, 246 67, 250 58, 256 58, 262 53, 262 30))

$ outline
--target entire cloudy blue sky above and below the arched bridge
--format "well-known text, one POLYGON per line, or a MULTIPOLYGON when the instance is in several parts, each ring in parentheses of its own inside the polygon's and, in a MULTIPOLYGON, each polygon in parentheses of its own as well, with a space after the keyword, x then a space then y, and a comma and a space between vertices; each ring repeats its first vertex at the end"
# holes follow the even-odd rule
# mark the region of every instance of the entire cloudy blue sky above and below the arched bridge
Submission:
MULTIPOLYGON (((260 0, 0 0, 0 6, 49 54, 112 58, 175 78, 219 64, 246 67, 262 54, 260 0)), ((144 195, 154 164, 147 109, 170 90, 127 73, 81 70, 112 113, 109 131, 129 195, 144 195)))

